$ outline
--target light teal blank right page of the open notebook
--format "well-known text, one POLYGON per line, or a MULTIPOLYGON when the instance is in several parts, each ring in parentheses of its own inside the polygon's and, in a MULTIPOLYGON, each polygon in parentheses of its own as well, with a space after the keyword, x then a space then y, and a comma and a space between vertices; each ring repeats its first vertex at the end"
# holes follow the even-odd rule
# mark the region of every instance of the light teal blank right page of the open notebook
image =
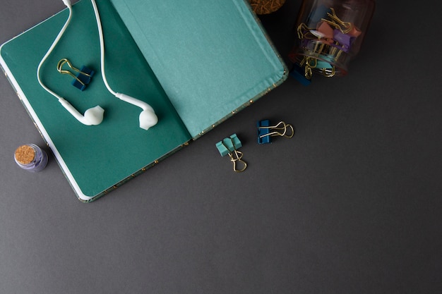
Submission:
POLYGON ((111 1, 192 137, 287 77, 245 0, 111 1))

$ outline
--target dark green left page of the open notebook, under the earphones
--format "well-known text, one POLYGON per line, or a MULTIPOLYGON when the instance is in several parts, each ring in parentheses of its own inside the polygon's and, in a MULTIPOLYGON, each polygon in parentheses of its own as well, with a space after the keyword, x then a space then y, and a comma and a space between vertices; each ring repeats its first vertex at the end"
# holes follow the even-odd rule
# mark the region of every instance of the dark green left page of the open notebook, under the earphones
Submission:
POLYGON ((2 66, 83 201, 103 195, 191 139, 114 6, 108 1, 99 4, 109 85, 116 92, 153 106, 159 122, 147 131, 138 126, 141 109, 120 101, 104 87, 100 43, 90 1, 73 5, 71 25, 44 63, 42 79, 82 114, 92 106, 102 106, 104 120, 100 125, 87 126, 76 121, 37 82, 38 63, 68 18, 67 10, 1 47, 2 66), (62 58, 69 59, 77 68, 85 65, 95 70, 84 92, 71 85, 73 78, 56 71, 62 58))

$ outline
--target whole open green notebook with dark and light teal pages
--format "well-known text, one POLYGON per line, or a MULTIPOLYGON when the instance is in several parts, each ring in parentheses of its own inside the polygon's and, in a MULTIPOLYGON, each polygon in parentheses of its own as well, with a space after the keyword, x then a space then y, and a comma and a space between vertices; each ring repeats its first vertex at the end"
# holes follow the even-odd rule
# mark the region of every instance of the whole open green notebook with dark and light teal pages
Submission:
POLYGON ((82 114, 83 125, 40 87, 37 66, 68 18, 65 9, 1 46, 0 63, 78 199, 90 202, 157 164, 263 96, 287 68, 244 0, 97 0, 109 85, 150 104, 158 123, 110 94, 100 73, 92 4, 73 5, 71 24, 42 67, 45 85, 82 114), (95 71, 81 92, 56 71, 66 58, 95 71))

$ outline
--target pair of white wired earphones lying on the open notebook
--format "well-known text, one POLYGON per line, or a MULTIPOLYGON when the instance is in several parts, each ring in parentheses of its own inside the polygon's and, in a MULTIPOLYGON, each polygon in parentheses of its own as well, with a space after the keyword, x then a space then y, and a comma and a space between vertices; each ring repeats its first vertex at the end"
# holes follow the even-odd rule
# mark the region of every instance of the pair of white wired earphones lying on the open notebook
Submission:
MULTIPOLYGON (((91 2, 92 2, 92 6, 93 6, 94 12, 95 12, 95 18, 97 19, 97 28, 98 28, 98 33, 99 33, 98 35, 100 37, 100 56, 101 56, 100 65, 101 65, 102 79, 103 79, 104 85, 106 85, 107 90, 110 93, 112 93, 115 97, 117 97, 118 99, 121 99, 124 102, 127 102, 129 104, 133 104, 133 105, 138 106, 141 109, 143 109, 143 111, 141 111, 141 114, 139 116, 140 128, 143 128, 144 130, 148 130, 150 127, 152 127, 153 125, 156 125, 158 122, 158 117, 155 114, 155 111, 153 110, 152 106, 150 106, 146 102, 143 102, 139 99, 133 98, 129 95, 114 92, 114 90, 112 90, 112 88, 109 87, 109 83, 107 82, 106 74, 104 72, 104 37, 103 37, 101 20, 100 20, 100 14, 98 13, 98 8, 97 8, 97 4, 95 3, 95 0, 91 0, 91 2)), ((72 114, 73 117, 75 117, 80 123, 83 123, 84 125, 99 125, 103 120, 104 109, 102 109, 100 106, 95 106, 95 107, 92 107, 92 108, 86 110, 85 114, 82 115, 69 102, 67 102, 66 99, 64 99, 63 97, 59 96, 59 94, 56 94, 55 92, 50 90, 48 87, 46 87, 46 85, 44 85, 44 83, 42 82, 42 80, 40 78, 40 69, 42 67, 42 64, 44 63, 44 61, 46 61, 49 54, 51 54, 51 52, 54 50, 54 47, 59 42, 59 40, 61 39, 61 36, 64 34, 64 32, 66 31, 66 28, 68 27, 69 23, 71 22, 71 18, 72 18, 71 1, 70 0, 63 0, 63 3, 69 9, 68 19, 66 20, 66 23, 64 24, 64 26, 61 28, 59 35, 56 36, 56 39, 52 43, 51 47, 49 48, 47 53, 44 55, 42 61, 40 61, 40 64, 38 65, 38 68, 37 68, 37 80, 40 83, 40 85, 44 88, 44 90, 46 90, 47 92, 52 94, 54 97, 59 99, 60 104, 62 106, 64 106, 64 108, 70 114, 72 114)))

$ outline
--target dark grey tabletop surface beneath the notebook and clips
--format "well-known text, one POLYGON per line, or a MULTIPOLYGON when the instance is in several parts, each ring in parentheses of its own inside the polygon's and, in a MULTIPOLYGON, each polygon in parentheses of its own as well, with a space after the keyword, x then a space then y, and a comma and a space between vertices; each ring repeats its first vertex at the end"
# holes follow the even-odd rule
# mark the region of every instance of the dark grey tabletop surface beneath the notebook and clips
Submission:
MULTIPOLYGON (((92 204, 52 157, 16 166, 43 141, 0 78, 0 293, 441 293, 441 8, 395 2, 347 77, 289 79, 92 204), (261 118, 297 133, 257 145, 261 118), (244 173, 215 148, 232 133, 244 173)), ((284 56, 299 4, 263 18, 284 56)), ((61 8, 2 1, 0 42, 61 8)))

